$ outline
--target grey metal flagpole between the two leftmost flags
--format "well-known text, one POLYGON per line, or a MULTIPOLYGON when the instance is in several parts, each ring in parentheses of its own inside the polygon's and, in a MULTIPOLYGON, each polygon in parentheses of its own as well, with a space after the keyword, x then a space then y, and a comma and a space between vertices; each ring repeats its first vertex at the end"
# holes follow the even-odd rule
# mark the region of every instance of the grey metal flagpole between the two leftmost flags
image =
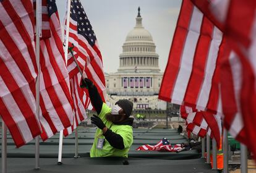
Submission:
MULTIPOLYGON (((36 0, 36 117, 40 120, 40 36, 41 36, 41 0, 36 0)), ((39 136, 35 138, 35 169, 39 167, 39 136)))

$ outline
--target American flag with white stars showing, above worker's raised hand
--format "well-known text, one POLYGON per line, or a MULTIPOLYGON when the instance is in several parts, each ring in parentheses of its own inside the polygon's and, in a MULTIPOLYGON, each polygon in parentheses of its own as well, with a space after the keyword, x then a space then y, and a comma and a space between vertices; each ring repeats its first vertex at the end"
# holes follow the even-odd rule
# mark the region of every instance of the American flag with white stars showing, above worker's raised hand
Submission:
MULTIPOLYGON (((105 77, 98 41, 79 0, 72 0, 70 5, 69 46, 71 47, 72 44, 75 46, 73 49, 74 56, 79 63, 80 69, 85 72, 87 78, 95 83, 101 97, 104 99, 105 77)), ((67 69, 70 78, 78 73, 70 54, 67 59, 67 69)))

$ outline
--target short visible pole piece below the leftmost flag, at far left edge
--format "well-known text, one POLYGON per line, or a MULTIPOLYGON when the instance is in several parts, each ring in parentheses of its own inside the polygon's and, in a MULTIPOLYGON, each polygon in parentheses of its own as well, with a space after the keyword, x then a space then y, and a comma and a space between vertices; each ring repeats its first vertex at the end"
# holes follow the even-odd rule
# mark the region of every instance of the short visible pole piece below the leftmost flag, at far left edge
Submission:
POLYGON ((6 124, 4 124, 4 120, 2 120, 2 173, 7 172, 7 128, 6 124))

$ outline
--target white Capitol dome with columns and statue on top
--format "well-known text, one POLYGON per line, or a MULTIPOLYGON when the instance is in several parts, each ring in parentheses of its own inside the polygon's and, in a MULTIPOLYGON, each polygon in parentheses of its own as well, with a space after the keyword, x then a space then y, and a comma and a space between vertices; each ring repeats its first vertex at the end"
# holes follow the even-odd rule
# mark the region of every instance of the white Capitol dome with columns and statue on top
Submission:
POLYGON ((160 72, 158 54, 153 38, 142 25, 140 7, 136 17, 136 25, 127 36, 119 55, 119 72, 160 72))

